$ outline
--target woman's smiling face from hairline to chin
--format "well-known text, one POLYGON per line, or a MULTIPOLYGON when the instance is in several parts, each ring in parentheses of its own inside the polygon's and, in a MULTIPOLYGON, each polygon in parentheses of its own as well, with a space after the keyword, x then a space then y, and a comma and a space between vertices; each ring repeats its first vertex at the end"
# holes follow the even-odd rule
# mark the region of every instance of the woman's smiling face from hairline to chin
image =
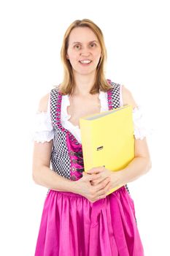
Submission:
POLYGON ((88 27, 74 28, 69 35, 66 57, 74 75, 95 73, 101 57, 101 46, 96 34, 88 27))

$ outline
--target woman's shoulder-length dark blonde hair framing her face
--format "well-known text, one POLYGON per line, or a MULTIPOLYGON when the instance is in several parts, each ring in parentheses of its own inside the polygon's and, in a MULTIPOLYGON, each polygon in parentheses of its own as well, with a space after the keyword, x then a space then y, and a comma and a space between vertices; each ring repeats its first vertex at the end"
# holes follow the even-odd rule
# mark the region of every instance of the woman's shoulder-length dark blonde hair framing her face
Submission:
POLYGON ((68 59, 66 59, 66 53, 69 47, 69 35, 72 29, 77 27, 88 27, 89 29, 91 29, 93 33, 96 34, 96 37, 98 38, 99 44, 101 46, 101 58, 96 68, 96 80, 92 89, 90 89, 90 94, 98 93, 99 89, 101 91, 108 91, 111 88, 111 85, 104 76, 104 64, 107 61, 107 49, 104 44, 103 33, 101 29, 99 29, 98 26, 95 23, 93 23, 93 21, 83 19, 74 20, 74 22, 66 30, 66 33, 63 37, 63 45, 61 48, 61 61, 63 62, 63 82, 60 84, 60 92, 61 94, 72 94, 72 91, 75 86, 72 65, 70 64, 68 59))

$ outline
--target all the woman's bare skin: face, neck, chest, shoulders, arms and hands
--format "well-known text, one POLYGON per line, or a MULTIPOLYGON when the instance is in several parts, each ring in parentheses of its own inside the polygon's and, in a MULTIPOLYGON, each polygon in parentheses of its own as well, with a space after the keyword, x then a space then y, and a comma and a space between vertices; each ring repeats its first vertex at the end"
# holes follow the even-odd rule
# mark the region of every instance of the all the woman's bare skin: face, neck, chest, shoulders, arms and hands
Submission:
MULTIPOLYGON (((101 47, 96 35, 89 28, 73 29, 69 36, 69 48, 66 53, 68 61, 72 64, 75 78, 75 89, 70 96, 70 106, 67 109, 71 115, 69 121, 79 125, 82 116, 98 113, 100 102, 98 94, 89 94, 96 75, 96 67, 101 57, 101 47), (74 43, 78 42, 78 43, 74 43), (82 66, 80 60, 90 59, 91 64, 82 66), (87 108, 88 106, 88 108, 87 108)), ((131 91, 123 86, 123 105, 137 107, 131 91)), ((42 97, 39 102, 39 111, 47 111, 49 94, 42 97)), ((33 153, 33 179, 36 184, 57 191, 74 192, 86 197, 90 202, 107 197, 107 192, 119 184, 134 181, 147 173, 151 168, 150 153, 147 140, 135 139, 135 157, 123 170, 112 172, 104 167, 95 167, 83 173, 78 181, 70 181, 50 169, 50 154, 53 140, 45 143, 34 142, 33 153)))

